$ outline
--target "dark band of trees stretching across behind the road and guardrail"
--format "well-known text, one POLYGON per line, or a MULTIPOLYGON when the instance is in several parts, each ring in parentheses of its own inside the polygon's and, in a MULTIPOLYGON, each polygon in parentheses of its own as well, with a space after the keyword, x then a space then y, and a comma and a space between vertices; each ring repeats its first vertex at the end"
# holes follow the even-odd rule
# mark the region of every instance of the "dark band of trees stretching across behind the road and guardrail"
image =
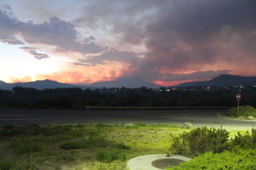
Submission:
POLYGON ((86 106, 237 106, 236 93, 241 93, 239 105, 256 106, 256 90, 170 90, 164 88, 56 88, 37 90, 16 86, 0 90, 0 108, 72 109, 86 106))

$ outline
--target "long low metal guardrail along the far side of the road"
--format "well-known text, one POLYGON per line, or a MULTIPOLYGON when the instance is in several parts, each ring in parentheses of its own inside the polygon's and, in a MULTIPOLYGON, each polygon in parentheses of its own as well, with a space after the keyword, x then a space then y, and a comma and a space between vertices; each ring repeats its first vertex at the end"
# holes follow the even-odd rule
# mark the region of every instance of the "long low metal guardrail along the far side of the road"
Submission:
POLYGON ((214 109, 230 109, 235 106, 228 107, 197 107, 197 106, 180 106, 180 107, 112 107, 112 106, 86 106, 86 110, 214 110, 214 109))

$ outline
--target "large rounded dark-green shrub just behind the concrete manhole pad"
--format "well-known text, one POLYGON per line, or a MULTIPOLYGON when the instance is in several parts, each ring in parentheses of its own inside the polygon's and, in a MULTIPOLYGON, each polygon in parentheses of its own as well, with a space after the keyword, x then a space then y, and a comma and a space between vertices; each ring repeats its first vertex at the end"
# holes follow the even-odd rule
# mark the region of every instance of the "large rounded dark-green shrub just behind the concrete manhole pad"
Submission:
POLYGON ((196 128, 190 132, 183 132, 179 137, 174 137, 173 144, 168 149, 167 155, 181 154, 195 157, 200 153, 220 153, 228 148, 229 132, 215 128, 196 128))

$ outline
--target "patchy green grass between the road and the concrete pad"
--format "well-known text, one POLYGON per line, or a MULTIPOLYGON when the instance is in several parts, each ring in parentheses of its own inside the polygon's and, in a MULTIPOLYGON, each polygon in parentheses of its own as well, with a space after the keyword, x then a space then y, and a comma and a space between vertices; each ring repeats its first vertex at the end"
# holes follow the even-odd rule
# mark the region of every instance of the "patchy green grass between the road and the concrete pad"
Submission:
MULTIPOLYGON (((165 154, 176 124, 0 127, 0 170, 123 170, 128 160, 165 154)), ((230 137, 237 134, 230 133, 230 137)), ((240 131, 244 133, 244 131, 240 131)))

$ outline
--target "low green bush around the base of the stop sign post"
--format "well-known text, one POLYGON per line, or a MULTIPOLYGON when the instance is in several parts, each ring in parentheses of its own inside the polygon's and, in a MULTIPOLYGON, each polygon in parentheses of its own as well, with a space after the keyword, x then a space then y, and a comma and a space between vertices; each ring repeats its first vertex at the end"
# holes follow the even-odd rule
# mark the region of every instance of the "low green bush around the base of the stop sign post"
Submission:
MULTIPOLYGON (((237 117, 237 107, 228 110, 228 115, 232 117, 237 117)), ((239 116, 253 116, 256 117, 256 109, 252 106, 239 106, 239 116)))

